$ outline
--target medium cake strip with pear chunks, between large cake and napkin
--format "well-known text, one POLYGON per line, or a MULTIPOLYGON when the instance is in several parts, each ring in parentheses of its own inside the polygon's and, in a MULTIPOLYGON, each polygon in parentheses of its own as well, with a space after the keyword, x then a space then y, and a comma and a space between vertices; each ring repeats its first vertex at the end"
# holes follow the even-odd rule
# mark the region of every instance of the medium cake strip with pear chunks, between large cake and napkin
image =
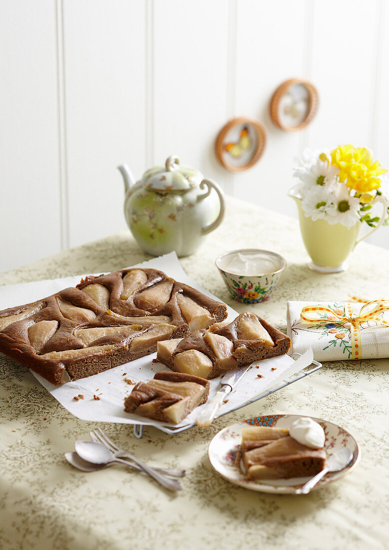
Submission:
POLYGON ((216 378, 230 368, 287 353, 291 339, 255 313, 158 342, 156 361, 173 371, 216 378))

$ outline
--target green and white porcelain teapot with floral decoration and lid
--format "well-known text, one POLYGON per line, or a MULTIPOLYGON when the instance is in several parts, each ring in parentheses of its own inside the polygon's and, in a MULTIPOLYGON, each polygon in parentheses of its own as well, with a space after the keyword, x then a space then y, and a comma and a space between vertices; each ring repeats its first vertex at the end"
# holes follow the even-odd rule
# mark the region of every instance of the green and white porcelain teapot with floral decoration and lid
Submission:
POLYGON ((224 217, 223 191, 201 172, 181 166, 177 156, 155 166, 135 183, 126 164, 124 215, 141 249, 153 256, 175 250, 192 254, 224 217))

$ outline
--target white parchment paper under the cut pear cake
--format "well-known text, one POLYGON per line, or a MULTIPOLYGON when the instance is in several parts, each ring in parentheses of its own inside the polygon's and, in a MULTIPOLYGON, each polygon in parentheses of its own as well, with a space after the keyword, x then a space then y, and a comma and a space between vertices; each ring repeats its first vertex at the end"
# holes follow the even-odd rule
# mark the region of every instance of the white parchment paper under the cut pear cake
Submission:
MULTIPOLYGON (((211 298, 218 299, 187 276, 175 252, 139 263, 134 267, 150 267, 164 271, 169 277, 173 277, 182 283, 189 284, 191 287, 200 290, 200 292, 211 298)), ((50 296, 64 288, 74 287, 80 282, 81 278, 85 277, 87 274, 90 273, 74 277, 0 287, 0 310, 15 305, 27 304, 50 296)), ((96 274, 100 275, 101 273, 96 274)), ((228 307, 228 319, 230 321, 237 315, 238 313, 236 311, 228 307)), ((45 387, 65 409, 81 420, 172 427, 172 424, 145 419, 145 417, 124 412, 124 398, 131 392, 135 383, 150 379, 154 377, 155 372, 167 369, 165 365, 153 363, 152 360, 155 359, 155 357, 156 353, 147 355, 136 361, 131 361, 124 365, 111 368, 108 371, 101 372, 98 375, 82 378, 75 382, 67 382, 62 386, 54 386, 45 378, 37 375, 34 371, 31 372, 42 386, 45 387), (133 384, 128 383, 129 381, 133 382, 133 384), (74 397, 78 394, 83 395, 84 399, 79 399, 78 401, 74 400, 74 397), (98 397, 98 399, 95 399, 94 396, 98 397)), ((9 359, 9 361, 12 361, 12 359, 9 359)), ((244 406, 247 401, 264 393, 267 389, 281 384, 283 379, 287 379, 296 372, 294 363, 295 361, 288 355, 259 361, 256 364, 257 366, 254 365, 253 368, 245 374, 236 389, 228 395, 227 403, 222 404, 218 416, 226 414, 239 406, 244 406), (259 378, 257 375, 262 375, 263 378, 259 378)), ((20 366, 20 368, 24 367, 20 366)), ((215 395, 219 382, 220 377, 210 381, 210 398, 215 395)), ((193 424, 202 406, 196 408, 186 419, 175 427, 193 424)))

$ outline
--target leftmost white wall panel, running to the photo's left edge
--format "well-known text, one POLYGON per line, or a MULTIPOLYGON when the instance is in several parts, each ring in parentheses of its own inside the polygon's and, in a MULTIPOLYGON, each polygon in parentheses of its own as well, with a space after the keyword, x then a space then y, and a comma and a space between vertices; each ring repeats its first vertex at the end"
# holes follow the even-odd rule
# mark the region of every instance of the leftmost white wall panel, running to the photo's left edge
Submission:
POLYGON ((0 271, 59 251, 56 12, 2 2, 0 271))

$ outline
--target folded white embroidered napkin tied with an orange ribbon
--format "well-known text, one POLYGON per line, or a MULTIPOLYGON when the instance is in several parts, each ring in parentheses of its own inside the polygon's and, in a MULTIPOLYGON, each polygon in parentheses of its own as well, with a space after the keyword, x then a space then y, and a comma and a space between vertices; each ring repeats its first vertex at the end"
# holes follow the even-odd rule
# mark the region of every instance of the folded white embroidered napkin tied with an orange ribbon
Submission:
POLYGON ((389 302, 288 302, 293 353, 309 346, 317 361, 389 357, 389 302))

